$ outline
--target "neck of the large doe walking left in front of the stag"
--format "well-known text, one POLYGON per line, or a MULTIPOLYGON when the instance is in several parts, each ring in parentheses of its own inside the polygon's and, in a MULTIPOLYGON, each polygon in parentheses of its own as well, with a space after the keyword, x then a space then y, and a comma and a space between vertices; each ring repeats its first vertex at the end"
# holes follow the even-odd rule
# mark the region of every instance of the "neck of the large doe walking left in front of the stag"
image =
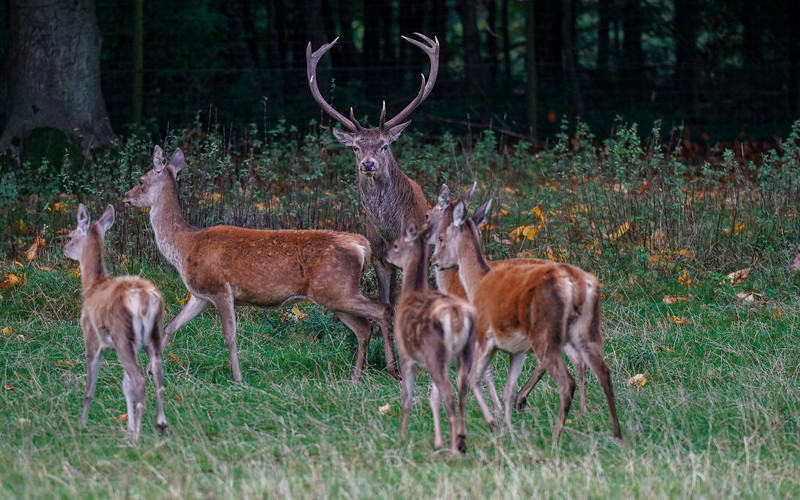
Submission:
POLYGON ((158 201, 150 207, 150 224, 153 226, 159 252, 180 270, 179 240, 181 236, 194 232, 195 229, 186 222, 181 213, 178 185, 174 179, 165 184, 158 201))

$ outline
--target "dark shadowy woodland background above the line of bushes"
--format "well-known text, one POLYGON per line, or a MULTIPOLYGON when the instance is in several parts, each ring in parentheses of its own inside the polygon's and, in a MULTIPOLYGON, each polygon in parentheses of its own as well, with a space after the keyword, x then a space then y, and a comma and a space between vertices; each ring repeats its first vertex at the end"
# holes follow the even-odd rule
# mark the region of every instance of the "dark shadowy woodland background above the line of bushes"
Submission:
POLYGON ((134 131, 158 136, 222 126, 240 135, 253 127, 327 124, 305 81, 305 48, 336 37, 320 67, 323 92, 338 108, 353 106, 359 120, 374 125, 382 100, 390 114, 396 112, 428 72, 424 54, 401 39, 413 32, 442 44, 437 86, 413 116, 416 130, 431 137, 492 128, 544 143, 564 119, 586 122, 602 136, 622 117, 645 127, 656 120, 667 129, 682 126, 686 137, 710 146, 737 138, 773 140, 800 116, 799 2, 0 5, 4 147, 19 148, 40 127, 77 134, 76 143, 86 150, 134 131), (86 37, 93 29, 97 36, 86 37), (89 74, 67 67, 80 58, 88 61, 83 67, 89 74), (83 81, 96 78, 102 92, 83 81), (36 83, 44 80, 49 83, 36 83), (81 97, 70 106, 85 106, 83 117, 80 110, 42 100, 62 91, 69 96, 70 86, 81 97))

